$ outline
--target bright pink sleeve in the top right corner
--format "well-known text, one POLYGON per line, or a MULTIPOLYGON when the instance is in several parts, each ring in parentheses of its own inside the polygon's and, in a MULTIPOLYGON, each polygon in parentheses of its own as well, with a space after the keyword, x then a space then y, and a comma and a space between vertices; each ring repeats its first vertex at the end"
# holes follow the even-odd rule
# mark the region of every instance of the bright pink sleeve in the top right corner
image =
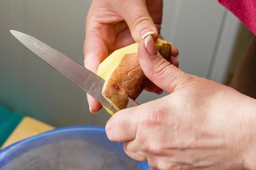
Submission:
POLYGON ((256 35, 256 0, 218 0, 256 35))

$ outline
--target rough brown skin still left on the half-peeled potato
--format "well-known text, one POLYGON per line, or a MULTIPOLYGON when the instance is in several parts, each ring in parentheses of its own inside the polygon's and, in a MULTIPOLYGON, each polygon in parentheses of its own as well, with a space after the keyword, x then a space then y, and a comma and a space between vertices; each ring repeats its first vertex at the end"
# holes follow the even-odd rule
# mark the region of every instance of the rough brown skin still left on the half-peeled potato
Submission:
MULTIPOLYGON (((171 44, 157 45, 156 48, 164 59, 170 60, 171 44)), ((115 108, 122 110, 127 107, 128 97, 137 99, 148 82, 140 67, 139 54, 125 54, 108 79, 102 94, 115 108)))

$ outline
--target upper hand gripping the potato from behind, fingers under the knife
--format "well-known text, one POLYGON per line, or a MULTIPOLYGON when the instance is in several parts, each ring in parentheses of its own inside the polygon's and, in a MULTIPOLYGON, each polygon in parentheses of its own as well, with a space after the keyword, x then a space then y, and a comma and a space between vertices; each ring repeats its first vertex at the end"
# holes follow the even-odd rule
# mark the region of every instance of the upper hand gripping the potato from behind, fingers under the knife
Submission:
MULTIPOLYGON (((140 42, 146 35, 159 38, 162 22, 163 0, 93 0, 86 21, 84 41, 84 67, 97 72, 99 64, 116 49, 140 42)), ((170 62, 178 66, 174 57, 178 50, 172 46, 170 62)), ((163 90, 149 83, 145 89, 157 94, 163 90)), ((87 94, 92 113, 102 105, 87 94)))

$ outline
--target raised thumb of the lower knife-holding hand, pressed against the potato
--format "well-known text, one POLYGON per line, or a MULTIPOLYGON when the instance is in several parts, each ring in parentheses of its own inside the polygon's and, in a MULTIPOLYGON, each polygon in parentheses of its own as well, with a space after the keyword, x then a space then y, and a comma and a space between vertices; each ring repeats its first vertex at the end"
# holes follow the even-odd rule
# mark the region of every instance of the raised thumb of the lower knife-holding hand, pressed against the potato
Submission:
POLYGON ((192 79, 190 74, 181 71, 157 52, 151 36, 140 42, 138 54, 145 76, 168 93, 172 93, 175 88, 192 79))

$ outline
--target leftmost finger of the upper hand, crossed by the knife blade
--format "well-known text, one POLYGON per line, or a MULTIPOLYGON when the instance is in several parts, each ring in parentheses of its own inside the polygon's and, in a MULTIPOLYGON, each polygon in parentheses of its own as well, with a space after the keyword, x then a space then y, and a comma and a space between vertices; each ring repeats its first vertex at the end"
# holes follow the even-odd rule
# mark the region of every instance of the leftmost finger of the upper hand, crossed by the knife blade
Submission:
MULTIPOLYGON (((104 41, 95 34, 87 32, 84 41, 84 67, 97 73, 99 64, 108 56, 108 48, 104 41), (92 43, 93 41, 93 43, 92 43)), ((87 94, 87 101, 91 113, 97 113, 102 105, 92 96, 87 94)))

